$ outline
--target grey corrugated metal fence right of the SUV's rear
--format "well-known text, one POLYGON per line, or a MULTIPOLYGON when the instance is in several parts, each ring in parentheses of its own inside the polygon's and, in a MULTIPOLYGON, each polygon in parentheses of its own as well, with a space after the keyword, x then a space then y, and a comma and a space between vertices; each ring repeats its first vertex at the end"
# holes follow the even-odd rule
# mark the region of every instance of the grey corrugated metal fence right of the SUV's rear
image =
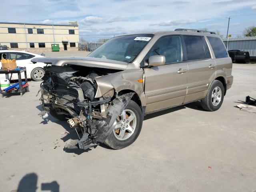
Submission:
POLYGON ((224 38, 228 50, 248 51, 250 56, 256 56, 256 37, 224 38))

